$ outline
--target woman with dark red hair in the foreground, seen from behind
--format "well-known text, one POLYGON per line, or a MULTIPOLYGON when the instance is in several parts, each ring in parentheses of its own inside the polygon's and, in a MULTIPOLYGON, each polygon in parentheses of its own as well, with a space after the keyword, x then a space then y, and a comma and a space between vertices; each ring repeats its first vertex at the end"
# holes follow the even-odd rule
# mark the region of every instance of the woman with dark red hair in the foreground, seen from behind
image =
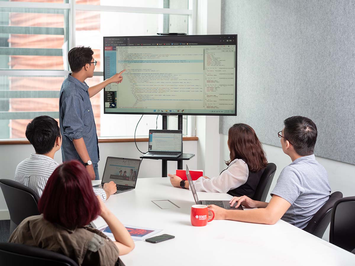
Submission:
POLYGON ((9 242, 37 246, 70 257, 78 265, 115 265, 135 246, 122 223, 96 197, 86 168, 78 161, 60 165, 38 203, 41 215, 24 219, 9 242), (87 227, 100 215, 116 241, 87 227))

